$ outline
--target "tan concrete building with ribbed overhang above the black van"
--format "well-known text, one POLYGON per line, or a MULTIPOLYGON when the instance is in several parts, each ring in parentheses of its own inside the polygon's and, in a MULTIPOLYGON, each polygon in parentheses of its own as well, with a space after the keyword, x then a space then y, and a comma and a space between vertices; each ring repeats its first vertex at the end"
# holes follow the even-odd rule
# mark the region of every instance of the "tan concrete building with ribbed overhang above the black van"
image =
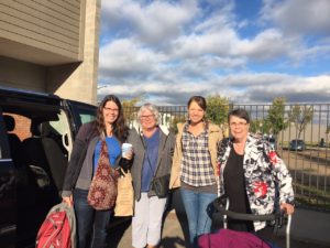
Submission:
POLYGON ((0 86, 96 104, 100 0, 0 0, 0 86))

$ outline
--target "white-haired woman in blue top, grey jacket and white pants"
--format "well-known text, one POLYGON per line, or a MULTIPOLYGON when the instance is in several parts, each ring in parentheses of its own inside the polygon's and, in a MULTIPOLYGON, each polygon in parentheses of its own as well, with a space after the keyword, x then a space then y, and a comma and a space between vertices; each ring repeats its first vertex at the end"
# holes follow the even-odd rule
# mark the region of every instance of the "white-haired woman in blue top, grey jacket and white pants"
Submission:
POLYGON ((152 104, 138 112, 139 128, 130 131, 127 142, 133 145, 131 169, 134 186, 132 246, 157 247, 161 240, 163 214, 167 197, 158 197, 151 186, 154 177, 169 174, 174 150, 174 133, 161 128, 160 112, 152 104))

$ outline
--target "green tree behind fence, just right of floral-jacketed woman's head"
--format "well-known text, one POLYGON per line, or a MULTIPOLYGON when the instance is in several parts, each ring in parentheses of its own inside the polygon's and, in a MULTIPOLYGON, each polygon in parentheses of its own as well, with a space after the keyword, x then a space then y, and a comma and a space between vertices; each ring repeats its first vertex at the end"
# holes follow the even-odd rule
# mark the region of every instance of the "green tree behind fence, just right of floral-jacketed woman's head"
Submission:
POLYGON ((286 99, 284 97, 275 97, 268 110, 266 125, 270 127, 270 132, 275 137, 288 126, 287 118, 285 117, 285 103, 286 99))

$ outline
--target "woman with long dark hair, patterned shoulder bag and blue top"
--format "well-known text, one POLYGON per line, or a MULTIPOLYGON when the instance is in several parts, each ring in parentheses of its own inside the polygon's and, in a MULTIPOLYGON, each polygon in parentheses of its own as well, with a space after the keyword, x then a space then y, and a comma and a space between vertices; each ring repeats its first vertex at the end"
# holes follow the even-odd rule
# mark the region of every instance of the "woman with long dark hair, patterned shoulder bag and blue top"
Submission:
MULTIPOLYGON (((121 158, 121 144, 127 137, 123 109, 118 97, 113 95, 106 96, 100 103, 96 120, 82 125, 78 131, 62 192, 63 201, 75 208, 78 248, 106 247, 117 187, 113 186, 106 195, 101 195, 101 200, 97 200, 98 194, 100 196, 103 193, 95 193, 91 185, 95 181, 102 180, 101 176, 98 177, 99 166, 105 166, 101 175, 107 174, 106 169, 110 168, 108 179, 116 181, 119 177, 118 169, 128 164, 121 158), (110 200, 105 209, 96 205, 102 200, 110 200)), ((127 154, 127 159, 132 158, 132 151, 127 154)), ((110 183, 105 182, 109 186, 110 183)))

